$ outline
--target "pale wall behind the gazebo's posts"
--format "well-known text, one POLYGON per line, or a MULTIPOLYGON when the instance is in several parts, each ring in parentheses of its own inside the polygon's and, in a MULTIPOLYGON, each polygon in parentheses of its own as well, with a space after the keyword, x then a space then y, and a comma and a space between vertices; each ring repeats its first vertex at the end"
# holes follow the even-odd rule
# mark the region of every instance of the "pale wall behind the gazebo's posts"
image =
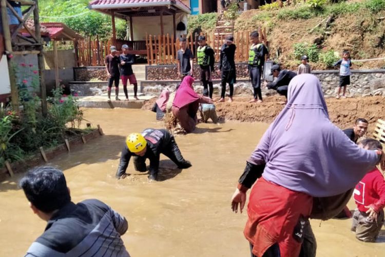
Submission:
MULTIPOLYGON (((186 14, 177 14, 176 15, 176 24, 182 21, 187 28, 187 15, 186 14)), ((158 35, 161 33, 161 25, 160 25, 160 16, 148 16, 148 17, 133 17, 133 40, 146 40, 146 32, 151 35, 158 35)), ((163 16, 163 31, 164 34, 174 33, 174 27, 172 25, 172 15, 164 15, 163 16)), ((186 33, 186 31, 184 32, 186 33)), ((178 35, 178 31, 177 31, 178 35)))

